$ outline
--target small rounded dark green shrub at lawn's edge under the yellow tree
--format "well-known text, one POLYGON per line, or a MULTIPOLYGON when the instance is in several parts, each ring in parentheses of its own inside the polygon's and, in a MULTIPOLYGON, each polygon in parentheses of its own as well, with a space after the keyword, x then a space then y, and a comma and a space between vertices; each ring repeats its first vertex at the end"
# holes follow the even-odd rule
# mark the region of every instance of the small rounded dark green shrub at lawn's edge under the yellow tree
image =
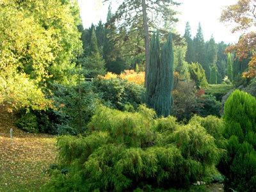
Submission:
POLYGON ((36 116, 33 113, 25 113, 16 122, 17 127, 28 132, 39 132, 36 116))

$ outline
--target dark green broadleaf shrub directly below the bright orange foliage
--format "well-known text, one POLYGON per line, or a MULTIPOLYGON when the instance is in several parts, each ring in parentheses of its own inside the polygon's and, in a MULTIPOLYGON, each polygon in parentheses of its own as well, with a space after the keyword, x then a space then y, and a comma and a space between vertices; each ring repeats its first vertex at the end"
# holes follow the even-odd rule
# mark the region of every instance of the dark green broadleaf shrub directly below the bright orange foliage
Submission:
POLYGON ((125 110, 126 104, 131 104, 134 109, 142 103, 141 97, 145 88, 140 84, 131 83, 124 79, 97 79, 93 82, 94 92, 100 93, 102 99, 111 108, 125 110))

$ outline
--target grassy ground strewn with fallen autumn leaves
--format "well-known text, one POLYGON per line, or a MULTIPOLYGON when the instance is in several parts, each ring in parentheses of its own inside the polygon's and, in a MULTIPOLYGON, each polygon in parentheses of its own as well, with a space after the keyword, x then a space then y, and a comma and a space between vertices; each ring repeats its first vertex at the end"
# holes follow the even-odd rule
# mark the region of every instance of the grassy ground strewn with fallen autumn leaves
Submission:
POLYGON ((21 131, 14 121, 0 109, 0 191, 41 191, 49 179, 47 169, 56 160, 56 138, 21 131))

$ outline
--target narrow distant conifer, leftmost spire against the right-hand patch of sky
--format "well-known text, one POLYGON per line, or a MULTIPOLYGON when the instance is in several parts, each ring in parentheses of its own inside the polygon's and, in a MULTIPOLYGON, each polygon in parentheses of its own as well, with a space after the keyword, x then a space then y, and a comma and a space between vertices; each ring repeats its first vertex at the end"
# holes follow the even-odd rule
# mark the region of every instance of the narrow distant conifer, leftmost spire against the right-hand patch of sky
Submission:
POLYGON ((193 40, 191 38, 191 28, 189 26, 189 22, 186 22, 184 38, 188 44, 185 60, 188 63, 195 63, 195 47, 194 47, 193 40))

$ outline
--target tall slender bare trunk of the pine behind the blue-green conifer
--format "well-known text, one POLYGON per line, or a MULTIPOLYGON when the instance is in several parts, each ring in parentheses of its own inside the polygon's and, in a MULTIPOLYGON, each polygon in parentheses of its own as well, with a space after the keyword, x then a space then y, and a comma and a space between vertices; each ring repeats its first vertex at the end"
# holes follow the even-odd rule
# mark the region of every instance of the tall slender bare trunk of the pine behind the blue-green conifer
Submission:
POLYGON ((150 47, 149 47, 149 35, 148 35, 148 22, 147 22, 147 10, 146 10, 146 0, 141 0, 142 12, 143 12, 143 27, 145 33, 145 52, 146 52, 146 67, 145 67, 145 87, 147 88, 147 69, 149 66, 150 58, 150 47))

